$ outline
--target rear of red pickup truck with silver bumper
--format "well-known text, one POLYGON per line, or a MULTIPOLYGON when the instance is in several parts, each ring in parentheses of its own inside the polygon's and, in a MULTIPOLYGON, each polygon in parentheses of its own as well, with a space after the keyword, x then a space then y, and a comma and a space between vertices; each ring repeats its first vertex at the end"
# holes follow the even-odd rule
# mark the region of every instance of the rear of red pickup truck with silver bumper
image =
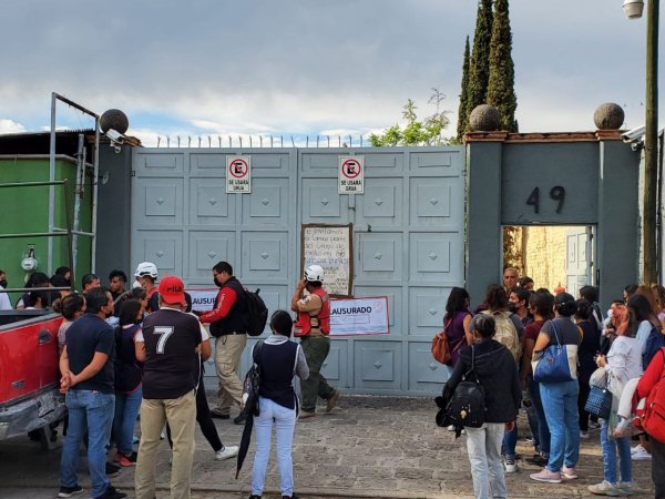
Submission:
POLYGON ((45 429, 64 416, 60 323, 62 316, 49 310, 0 312, 0 440, 45 429))

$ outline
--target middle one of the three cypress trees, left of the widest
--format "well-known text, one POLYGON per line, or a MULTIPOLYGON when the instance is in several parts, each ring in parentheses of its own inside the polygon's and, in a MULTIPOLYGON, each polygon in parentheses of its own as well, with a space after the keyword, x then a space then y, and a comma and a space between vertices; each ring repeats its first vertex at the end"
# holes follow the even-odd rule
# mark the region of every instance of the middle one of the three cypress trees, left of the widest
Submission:
MULTIPOLYGON (((466 114, 480 104, 487 104, 488 82, 490 77, 490 41, 492 40, 492 0, 478 2, 475 32, 473 33, 473 51, 469 67, 469 92, 466 114)), ((469 129, 467 118, 466 129, 469 129)))

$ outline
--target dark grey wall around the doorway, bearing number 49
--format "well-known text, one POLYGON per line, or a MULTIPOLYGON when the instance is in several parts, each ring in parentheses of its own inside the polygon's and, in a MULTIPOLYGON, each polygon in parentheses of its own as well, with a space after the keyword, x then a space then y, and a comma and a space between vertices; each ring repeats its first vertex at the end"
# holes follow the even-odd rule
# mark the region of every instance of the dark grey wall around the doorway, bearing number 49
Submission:
POLYGON ((488 284, 501 279, 501 224, 597 223, 594 284, 603 306, 637 281, 640 155, 621 142, 621 132, 477 132, 466 142, 467 287, 473 304, 488 284), (528 203, 536 186, 538 213, 528 203), (566 192, 562 206, 552 200, 553 186, 566 192))

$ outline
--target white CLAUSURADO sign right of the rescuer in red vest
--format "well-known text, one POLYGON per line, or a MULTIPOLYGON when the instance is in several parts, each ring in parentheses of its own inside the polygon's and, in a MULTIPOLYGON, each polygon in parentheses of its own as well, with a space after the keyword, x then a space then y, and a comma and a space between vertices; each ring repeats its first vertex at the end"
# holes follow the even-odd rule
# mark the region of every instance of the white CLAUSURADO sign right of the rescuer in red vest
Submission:
POLYGON ((330 301, 330 336, 388 334, 388 297, 330 301))

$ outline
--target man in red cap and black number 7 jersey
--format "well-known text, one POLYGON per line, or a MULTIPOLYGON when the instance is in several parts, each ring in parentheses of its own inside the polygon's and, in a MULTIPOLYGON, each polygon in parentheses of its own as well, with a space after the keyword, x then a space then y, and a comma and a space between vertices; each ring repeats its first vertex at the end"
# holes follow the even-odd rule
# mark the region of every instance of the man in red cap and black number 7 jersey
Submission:
POLYGON ((136 498, 155 497, 155 452, 168 422, 173 439, 171 497, 188 498, 194 460, 195 389, 198 379, 201 326, 186 307, 185 286, 175 276, 160 282, 160 309, 143 320, 136 358, 145 358, 141 444, 136 459, 136 498))

